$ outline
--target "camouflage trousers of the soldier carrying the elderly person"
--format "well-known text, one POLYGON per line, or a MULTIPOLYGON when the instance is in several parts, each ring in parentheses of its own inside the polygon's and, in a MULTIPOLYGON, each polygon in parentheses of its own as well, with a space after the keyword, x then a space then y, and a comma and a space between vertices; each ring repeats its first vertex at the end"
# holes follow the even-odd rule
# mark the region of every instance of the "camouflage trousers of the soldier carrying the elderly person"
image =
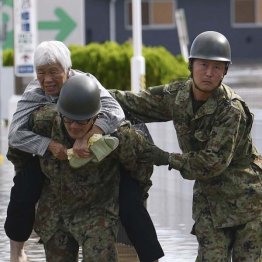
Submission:
MULTIPOLYGON (((113 230, 95 227, 81 244, 84 262, 117 262, 116 237, 113 230)), ((79 243, 69 233, 58 230, 44 243, 47 262, 78 262, 79 243)))

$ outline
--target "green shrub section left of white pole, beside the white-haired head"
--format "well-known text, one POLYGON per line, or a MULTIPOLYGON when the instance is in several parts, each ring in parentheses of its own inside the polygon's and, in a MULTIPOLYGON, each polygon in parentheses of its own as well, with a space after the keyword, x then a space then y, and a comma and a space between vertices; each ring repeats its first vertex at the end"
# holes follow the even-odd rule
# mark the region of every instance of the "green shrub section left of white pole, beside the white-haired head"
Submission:
POLYGON ((69 48, 73 68, 95 75, 106 88, 130 89, 130 47, 105 42, 91 43, 82 48, 69 48))

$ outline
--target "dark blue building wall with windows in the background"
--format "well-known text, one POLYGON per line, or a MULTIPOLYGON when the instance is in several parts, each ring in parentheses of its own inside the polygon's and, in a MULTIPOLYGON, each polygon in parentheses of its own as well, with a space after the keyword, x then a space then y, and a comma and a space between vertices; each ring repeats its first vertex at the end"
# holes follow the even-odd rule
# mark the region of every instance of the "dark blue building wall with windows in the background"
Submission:
MULTIPOLYGON (((186 18, 188 46, 206 30, 219 31, 231 43, 232 59, 262 59, 262 0, 141 0, 142 39, 180 54, 175 13, 186 18)), ((86 0, 86 43, 132 39, 132 0, 86 0)))

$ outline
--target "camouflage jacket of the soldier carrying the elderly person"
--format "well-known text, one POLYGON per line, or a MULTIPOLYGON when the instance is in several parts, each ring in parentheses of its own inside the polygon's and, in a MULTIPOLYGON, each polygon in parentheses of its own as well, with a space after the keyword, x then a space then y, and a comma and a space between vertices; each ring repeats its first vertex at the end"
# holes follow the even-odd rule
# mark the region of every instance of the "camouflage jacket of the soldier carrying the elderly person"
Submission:
MULTIPOLYGON (((73 145, 60 116, 49 107, 32 114, 31 126, 33 132, 51 137, 67 148, 73 145)), ((44 242, 61 227, 66 227, 81 243, 86 228, 116 226, 119 166, 140 181, 152 173, 152 165, 137 162, 144 137, 130 126, 120 127, 114 135, 119 139, 118 148, 99 163, 89 162, 73 169, 67 160, 59 161, 51 154, 40 157, 47 179, 37 208, 35 231, 44 242)))

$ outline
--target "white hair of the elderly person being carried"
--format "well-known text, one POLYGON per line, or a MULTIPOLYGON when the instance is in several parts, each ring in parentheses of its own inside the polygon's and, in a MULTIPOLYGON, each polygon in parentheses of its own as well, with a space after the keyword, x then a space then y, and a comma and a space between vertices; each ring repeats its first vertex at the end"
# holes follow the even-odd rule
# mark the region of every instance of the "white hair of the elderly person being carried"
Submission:
POLYGON ((65 72, 72 67, 71 53, 67 46, 60 41, 44 41, 35 49, 34 66, 59 63, 65 72))

